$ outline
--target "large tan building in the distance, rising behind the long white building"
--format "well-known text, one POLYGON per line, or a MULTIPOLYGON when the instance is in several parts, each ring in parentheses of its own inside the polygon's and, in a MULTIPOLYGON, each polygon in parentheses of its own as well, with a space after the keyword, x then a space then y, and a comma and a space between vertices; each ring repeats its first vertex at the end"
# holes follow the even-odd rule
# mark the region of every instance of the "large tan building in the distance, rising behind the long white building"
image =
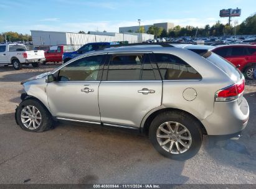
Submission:
MULTIPOLYGON (((163 27, 163 29, 165 29, 166 31, 168 31, 169 29, 173 29, 174 28, 174 24, 173 23, 169 23, 169 22, 162 22, 162 23, 155 23, 152 24, 156 27, 163 27)), ((149 27, 152 25, 141 25, 145 28, 145 32, 148 31, 149 27)), ((120 33, 125 33, 125 32, 136 32, 139 30, 139 25, 135 25, 135 26, 128 26, 128 27, 120 27, 119 28, 119 32, 120 33)))

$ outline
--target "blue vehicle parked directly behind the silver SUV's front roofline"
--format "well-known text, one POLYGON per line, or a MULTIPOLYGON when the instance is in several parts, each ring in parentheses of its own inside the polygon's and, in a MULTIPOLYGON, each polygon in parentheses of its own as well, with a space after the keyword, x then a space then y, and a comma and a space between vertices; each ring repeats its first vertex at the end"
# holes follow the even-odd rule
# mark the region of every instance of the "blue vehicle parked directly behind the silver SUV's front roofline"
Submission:
POLYGON ((76 51, 65 52, 62 55, 62 61, 63 63, 66 63, 70 59, 77 57, 78 55, 81 55, 83 53, 90 52, 93 50, 100 50, 102 48, 110 48, 110 45, 117 45, 117 44, 118 44, 117 42, 95 42, 95 43, 85 44, 76 51))

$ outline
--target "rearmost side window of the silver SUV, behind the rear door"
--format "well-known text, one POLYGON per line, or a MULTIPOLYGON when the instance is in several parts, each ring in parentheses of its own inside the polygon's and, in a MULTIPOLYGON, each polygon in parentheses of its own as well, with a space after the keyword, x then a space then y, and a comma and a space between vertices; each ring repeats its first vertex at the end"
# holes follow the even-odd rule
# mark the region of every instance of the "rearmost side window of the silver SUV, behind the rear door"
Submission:
POLYGON ((167 53, 154 53, 163 80, 201 80, 202 76, 181 58, 167 53))

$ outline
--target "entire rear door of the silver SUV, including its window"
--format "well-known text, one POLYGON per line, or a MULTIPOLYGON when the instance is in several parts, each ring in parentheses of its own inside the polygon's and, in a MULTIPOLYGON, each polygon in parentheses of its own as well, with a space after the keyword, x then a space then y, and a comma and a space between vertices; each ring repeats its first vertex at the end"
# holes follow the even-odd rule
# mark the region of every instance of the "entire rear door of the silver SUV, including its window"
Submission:
POLYGON ((103 123, 140 127, 143 117, 161 106, 162 81, 150 55, 110 55, 98 93, 103 123))

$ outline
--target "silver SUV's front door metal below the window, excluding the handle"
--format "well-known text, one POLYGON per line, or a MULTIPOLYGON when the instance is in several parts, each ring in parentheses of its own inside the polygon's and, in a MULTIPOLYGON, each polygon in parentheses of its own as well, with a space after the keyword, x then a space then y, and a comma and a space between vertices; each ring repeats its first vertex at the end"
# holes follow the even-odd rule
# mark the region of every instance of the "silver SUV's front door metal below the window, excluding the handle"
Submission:
POLYGON ((100 81, 48 83, 47 95, 50 111, 55 117, 100 121, 99 85, 100 81), (87 93, 85 88, 93 91, 87 93))

